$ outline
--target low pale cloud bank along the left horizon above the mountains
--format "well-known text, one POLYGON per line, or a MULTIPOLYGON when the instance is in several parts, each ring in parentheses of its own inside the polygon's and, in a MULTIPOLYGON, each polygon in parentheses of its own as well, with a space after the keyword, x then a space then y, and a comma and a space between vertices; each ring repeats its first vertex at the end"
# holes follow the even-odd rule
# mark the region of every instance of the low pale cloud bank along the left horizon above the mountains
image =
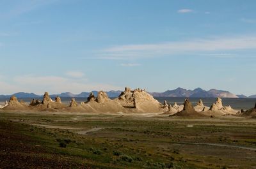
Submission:
POLYGON ((108 83, 88 82, 84 79, 61 76, 21 75, 12 79, 0 78, 1 94, 13 94, 20 91, 35 92, 36 94, 43 94, 45 91, 51 94, 69 91, 78 94, 83 91, 111 91, 122 88, 108 83))

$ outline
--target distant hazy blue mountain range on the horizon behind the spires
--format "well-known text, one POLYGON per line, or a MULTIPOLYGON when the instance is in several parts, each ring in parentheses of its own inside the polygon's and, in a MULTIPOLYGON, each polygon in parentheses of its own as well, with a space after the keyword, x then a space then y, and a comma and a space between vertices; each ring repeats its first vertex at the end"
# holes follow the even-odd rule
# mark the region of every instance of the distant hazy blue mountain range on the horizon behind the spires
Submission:
MULTIPOLYGON (((98 91, 92 91, 95 96, 97 96, 98 91)), ((106 92, 109 98, 116 98, 120 95, 122 91, 108 91, 106 92)), ((221 91, 217 89, 211 89, 205 91, 201 88, 196 88, 193 91, 182 89, 178 87, 174 90, 168 90, 165 92, 149 92, 154 97, 184 97, 184 98, 256 98, 256 94, 252 96, 244 96, 243 94, 232 94, 228 91, 221 91)), ((81 92, 80 94, 73 94, 72 92, 62 92, 61 94, 52 94, 51 97, 60 96, 62 98, 86 98, 90 92, 81 92)), ((42 98, 43 95, 36 95, 34 93, 27 92, 17 92, 12 95, 0 95, 0 98, 10 98, 15 95, 17 98, 42 98)))

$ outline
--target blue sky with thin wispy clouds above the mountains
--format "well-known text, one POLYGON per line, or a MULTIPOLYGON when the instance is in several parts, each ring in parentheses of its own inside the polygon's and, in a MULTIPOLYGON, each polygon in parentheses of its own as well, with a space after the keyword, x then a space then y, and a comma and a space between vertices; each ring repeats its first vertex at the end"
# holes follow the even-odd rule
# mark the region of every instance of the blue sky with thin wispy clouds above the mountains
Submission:
POLYGON ((0 94, 256 94, 254 0, 0 0, 0 94))

